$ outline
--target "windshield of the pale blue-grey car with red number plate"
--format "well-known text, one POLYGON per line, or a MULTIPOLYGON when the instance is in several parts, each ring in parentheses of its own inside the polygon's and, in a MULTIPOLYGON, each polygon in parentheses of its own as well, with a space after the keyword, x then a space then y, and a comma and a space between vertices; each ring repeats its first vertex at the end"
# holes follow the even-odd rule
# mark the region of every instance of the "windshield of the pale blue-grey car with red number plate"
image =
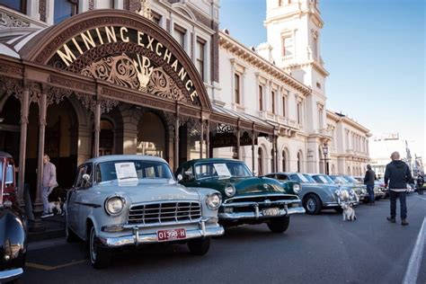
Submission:
POLYGON ((156 161, 111 161, 103 162, 96 166, 96 182, 108 182, 126 179, 173 179, 168 164, 156 161), (125 171, 117 169, 120 165, 127 166, 125 171), (134 167, 133 167, 134 166, 134 167))

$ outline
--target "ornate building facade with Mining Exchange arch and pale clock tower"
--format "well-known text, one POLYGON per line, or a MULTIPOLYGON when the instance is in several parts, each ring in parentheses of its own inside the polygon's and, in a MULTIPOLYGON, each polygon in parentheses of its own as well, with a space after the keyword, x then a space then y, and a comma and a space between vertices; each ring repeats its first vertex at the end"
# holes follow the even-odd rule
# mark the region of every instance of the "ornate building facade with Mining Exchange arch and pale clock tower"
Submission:
POLYGON ((0 0, 0 16, 0 148, 21 200, 29 183, 40 207, 45 153, 62 187, 96 155, 228 156, 262 174, 368 160, 368 129, 326 110, 316 1, 268 0, 257 49, 218 31, 218 0, 0 0))

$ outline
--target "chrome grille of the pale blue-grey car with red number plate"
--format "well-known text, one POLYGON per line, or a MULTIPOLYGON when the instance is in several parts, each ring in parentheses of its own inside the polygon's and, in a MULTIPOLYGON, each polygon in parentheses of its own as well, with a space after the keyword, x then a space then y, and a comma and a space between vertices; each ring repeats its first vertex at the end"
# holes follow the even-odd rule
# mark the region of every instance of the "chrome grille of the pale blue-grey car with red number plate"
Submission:
POLYGON ((201 217, 199 202, 162 202, 132 206, 129 224, 196 221, 201 217))

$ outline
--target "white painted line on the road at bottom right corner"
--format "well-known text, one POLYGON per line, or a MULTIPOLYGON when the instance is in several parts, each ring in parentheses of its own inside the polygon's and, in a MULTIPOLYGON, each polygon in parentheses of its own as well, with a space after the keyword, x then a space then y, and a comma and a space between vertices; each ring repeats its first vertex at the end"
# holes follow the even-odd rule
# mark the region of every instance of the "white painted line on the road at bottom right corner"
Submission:
POLYGON ((419 276, 420 266, 422 264, 422 255, 424 249, 424 240, 426 239, 426 217, 423 218, 423 224, 420 228, 419 235, 417 235, 417 240, 414 244, 413 253, 408 262, 407 271, 404 275, 404 284, 415 284, 417 282, 417 277, 419 276))

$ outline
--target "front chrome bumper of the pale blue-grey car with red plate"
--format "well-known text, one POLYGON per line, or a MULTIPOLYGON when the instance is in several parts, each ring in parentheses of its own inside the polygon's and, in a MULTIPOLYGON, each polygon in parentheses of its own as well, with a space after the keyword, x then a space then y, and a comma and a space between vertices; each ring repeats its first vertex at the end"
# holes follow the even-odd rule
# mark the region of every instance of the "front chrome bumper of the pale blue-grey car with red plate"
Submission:
MULTIPOLYGON (((180 224, 174 225, 174 227, 179 226, 180 224)), ((117 236, 117 237, 99 237, 101 244, 105 247, 120 247, 126 245, 138 245, 138 244, 154 244, 160 243, 158 241, 156 233, 144 234, 141 230, 144 229, 145 226, 132 226, 132 234, 117 236)), ((170 226, 165 226, 168 228, 173 228, 170 226)), ((161 228, 160 228, 161 229, 161 228)), ((204 220, 199 222, 198 228, 186 229, 186 237, 184 239, 179 239, 175 241, 185 241, 193 238, 200 238, 206 236, 216 236, 216 235, 224 235, 225 230, 223 226, 209 224, 206 225, 204 220)), ((172 240, 171 240, 172 241, 172 240)), ((166 242, 171 242, 166 241, 166 242)), ((166 243, 161 242, 161 243, 166 243)))

